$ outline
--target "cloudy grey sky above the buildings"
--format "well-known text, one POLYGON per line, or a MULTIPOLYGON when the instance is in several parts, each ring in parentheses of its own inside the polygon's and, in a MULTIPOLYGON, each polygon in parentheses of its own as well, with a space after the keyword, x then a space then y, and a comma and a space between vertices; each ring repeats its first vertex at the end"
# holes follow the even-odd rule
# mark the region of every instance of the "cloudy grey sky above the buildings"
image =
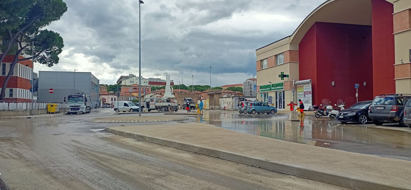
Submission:
MULTIPOLYGON (((35 71, 92 72, 100 84, 139 73, 137 0, 64 0, 68 11, 48 26, 61 34, 60 63, 35 71)), ((141 75, 175 84, 239 84, 256 75, 259 47, 292 34, 325 0, 144 0, 141 75)))

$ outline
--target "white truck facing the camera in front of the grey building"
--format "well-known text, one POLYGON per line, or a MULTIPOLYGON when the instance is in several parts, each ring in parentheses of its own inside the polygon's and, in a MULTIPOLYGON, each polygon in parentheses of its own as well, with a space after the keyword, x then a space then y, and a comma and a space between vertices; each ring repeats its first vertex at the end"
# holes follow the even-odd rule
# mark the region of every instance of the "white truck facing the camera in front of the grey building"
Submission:
MULTIPOLYGON (((66 97, 64 97, 66 102, 66 97)), ((67 114, 90 113, 90 95, 82 93, 67 96, 67 114)))

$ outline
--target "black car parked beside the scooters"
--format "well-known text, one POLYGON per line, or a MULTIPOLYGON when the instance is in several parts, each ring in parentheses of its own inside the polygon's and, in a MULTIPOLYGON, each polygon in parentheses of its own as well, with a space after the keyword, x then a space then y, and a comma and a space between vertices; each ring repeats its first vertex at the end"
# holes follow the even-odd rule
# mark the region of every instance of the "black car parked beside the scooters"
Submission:
POLYGON ((368 108, 372 101, 358 102, 348 109, 339 111, 337 114, 337 121, 342 124, 347 122, 358 122, 358 124, 367 124, 372 121, 368 116, 368 108))

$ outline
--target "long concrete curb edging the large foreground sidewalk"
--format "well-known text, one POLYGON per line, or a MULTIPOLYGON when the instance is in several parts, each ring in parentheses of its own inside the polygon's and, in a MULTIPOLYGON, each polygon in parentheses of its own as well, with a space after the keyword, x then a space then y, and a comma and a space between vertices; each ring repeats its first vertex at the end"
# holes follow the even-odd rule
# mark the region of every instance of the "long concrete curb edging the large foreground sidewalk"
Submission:
POLYGON ((402 190, 404 189, 401 187, 386 185, 383 183, 376 183, 372 181, 355 179, 350 176, 316 171, 316 170, 312 170, 309 168, 300 167, 297 165, 289 165, 285 163, 279 163, 276 161, 263 160, 260 158, 254 158, 251 156, 245 156, 245 155, 236 154, 233 152, 226 152, 226 151, 221 151, 221 150, 216 150, 216 149, 210 149, 210 148, 202 147, 198 145, 180 143, 177 141, 166 140, 162 138, 155 138, 151 136, 127 133, 125 131, 111 129, 110 127, 105 127, 104 130, 110 133, 117 134, 117 135, 129 137, 129 138, 135 138, 138 140, 144 140, 150 143, 156 143, 156 144, 165 145, 169 147, 175 147, 175 148, 187 150, 190 152, 205 154, 208 156, 222 158, 222 159, 229 160, 229 161, 244 163, 244 164, 252 165, 255 167, 262 167, 268 170, 273 170, 273 171, 284 173, 284 174, 290 174, 290 175, 294 175, 294 176, 298 176, 298 177, 302 177, 306 179, 312 179, 316 181, 321 181, 321 182, 344 186, 344 187, 353 188, 353 189, 359 189, 359 190, 377 190, 377 189, 378 190, 392 190, 392 189, 402 190))

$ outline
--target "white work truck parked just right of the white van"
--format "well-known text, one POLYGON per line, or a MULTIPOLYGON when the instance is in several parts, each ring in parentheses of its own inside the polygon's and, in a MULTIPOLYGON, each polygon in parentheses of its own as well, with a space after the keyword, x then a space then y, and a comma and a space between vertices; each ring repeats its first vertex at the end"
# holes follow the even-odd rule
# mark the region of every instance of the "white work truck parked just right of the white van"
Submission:
POLYGON ((178 104, 170 99, 161 97, 148 97, 142 102, 141 109, 147 107, 148 111, 178 111, 178 104))

